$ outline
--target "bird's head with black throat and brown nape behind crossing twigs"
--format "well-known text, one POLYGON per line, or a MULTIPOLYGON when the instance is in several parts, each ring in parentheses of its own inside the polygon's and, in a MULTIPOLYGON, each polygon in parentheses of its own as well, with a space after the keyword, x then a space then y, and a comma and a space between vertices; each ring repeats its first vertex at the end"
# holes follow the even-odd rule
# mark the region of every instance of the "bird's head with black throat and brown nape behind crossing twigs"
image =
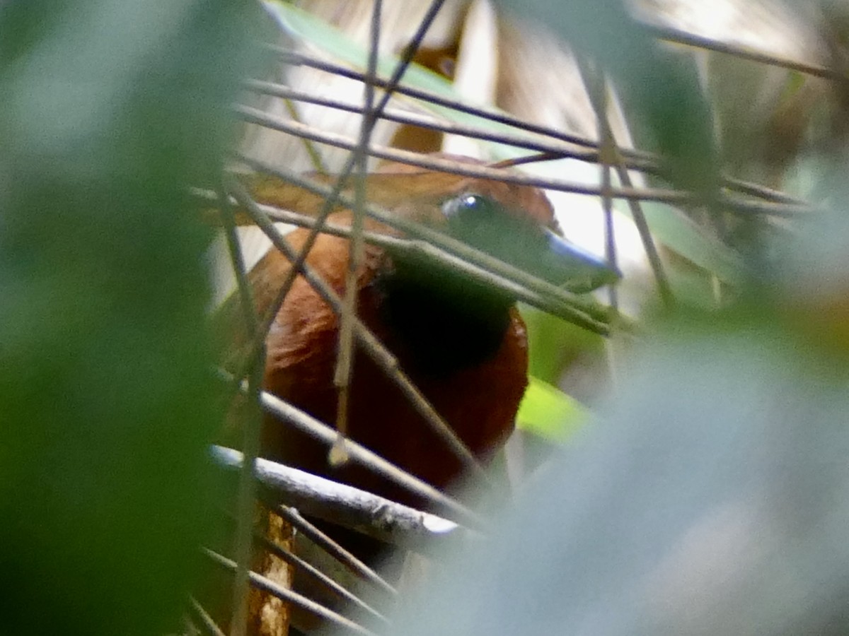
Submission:
MULTIPOLYGON (((448 159, 481 165, 474 159, 448 159)), ((334 181, 332 176, 313 178, 334 181)), ((251 189, 261 203, 301 214, 314 214, 324 203, 273 179, 258 179, 251 189)), ((389 164, 368 175, 366 192, 370 203, 389 213, 382 222, 368 220, 370 232, 425 242, 438 232, 455 247, 474 248, 571 292, 590 291, 620 276, 604 260, 560 235, 554 210, 536 187, 389 164)), ((344 193, 352 198, 352 189, 344 193)), ((348 225, 351 211, 341 209, 330 220, 348 225)), ((312 265, 342 281, 347 248, 342 239, 317 245, 312 265)), ((475 275, 459 267, 457 259, 430 259, 404 242, 395 248, 369 248, 368 254, 363 291, 371 296, 360 309, 375 308, 390 337, 413 349, 409 357, 423 371, 444 375, 498 351, 516 319, 517 296, 508 291, 516 287, 498 287, 492 277, 480 276, 487 269, 480 259, 475 275)))

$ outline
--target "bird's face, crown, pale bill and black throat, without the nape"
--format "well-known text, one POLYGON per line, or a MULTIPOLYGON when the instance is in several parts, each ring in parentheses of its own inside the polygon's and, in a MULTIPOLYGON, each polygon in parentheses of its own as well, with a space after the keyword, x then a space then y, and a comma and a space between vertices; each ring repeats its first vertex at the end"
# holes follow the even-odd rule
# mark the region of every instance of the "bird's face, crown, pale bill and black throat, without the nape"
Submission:
MULTIPOLYGON (((559 234, 554 210, 536 187, 390 165, 369 176, 368 192, 396 218, 568 291, 588 292, 620 277, 559 234)), ((391 250, 389 257, 375 285, 387 321, 405 342, 420 344, 415 357, 424 366, 462 366, 498 350, 515 296, 450 265, 391 250), (428 332, 439 336, 423 339, 428 332)))

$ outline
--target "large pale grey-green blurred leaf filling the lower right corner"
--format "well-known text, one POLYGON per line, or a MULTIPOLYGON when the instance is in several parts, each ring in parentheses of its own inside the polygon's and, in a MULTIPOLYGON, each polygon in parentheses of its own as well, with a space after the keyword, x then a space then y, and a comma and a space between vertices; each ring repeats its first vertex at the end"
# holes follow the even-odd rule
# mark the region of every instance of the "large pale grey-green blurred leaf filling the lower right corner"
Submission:
POLYGON ((846 369, 762 317, 668 325, 401 633, 843 633, 846 369))

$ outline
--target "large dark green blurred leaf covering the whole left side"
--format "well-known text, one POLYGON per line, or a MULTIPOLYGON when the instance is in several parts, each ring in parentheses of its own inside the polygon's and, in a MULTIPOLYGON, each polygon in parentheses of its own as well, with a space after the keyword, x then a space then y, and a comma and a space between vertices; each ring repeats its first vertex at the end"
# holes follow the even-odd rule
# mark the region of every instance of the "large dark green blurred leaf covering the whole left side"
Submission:
POLYGON ((178 626, 221 418, 209 231, 238 0, 0 8, 0 633, 178 626))

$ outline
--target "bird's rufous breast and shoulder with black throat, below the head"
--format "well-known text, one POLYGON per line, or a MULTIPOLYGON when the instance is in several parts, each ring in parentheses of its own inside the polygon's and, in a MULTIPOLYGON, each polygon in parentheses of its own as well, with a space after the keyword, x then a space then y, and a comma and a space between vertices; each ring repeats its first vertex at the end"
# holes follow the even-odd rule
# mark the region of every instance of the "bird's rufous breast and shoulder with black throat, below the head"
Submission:
MULTIPOLYGON (((290 243, 298 248, 306 232, 292 234, 290 243)), ((348 248, 345 239, 319 235, 306 259, 337 293, 345 291, 348 248)), ((270 253, 266 259, 274 262, 261 263, 261 271, 282 280, 287 266, 282 257, 270 253)), ((486 456, 512 431, 526 388, 525 325, 503 299, 489 307, 476 305, 462 289, 441 294, 445 281, 429 286, 426 279, 404 276, 387 254, 370 248, 357 276, 357 315, 469 449, 486 456)), ((332 423, 338 332, 338 317, 298 276, 268 334, 267 390, 332 423)), ((452 452, 362 349, 354 357, 348 427, 351 438, 437 487, 446 487, 460 473, 452 452)), ((267 422, 263 445, 272 459, 392 499, 422 503, 357 466, 331 471, 325 448, 281 422, 267 422)))

